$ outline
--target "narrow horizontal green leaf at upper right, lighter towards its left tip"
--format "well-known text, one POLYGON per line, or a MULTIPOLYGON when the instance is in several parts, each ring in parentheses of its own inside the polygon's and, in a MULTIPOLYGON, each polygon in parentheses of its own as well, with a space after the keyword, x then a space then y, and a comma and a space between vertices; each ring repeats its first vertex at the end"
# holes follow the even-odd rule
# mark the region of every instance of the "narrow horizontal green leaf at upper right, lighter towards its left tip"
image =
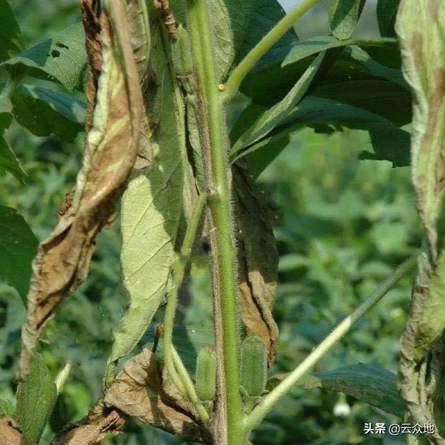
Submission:
POLYGON ((368 40, 337 40, 331 35, 319 35, 293 45, 291 50, 282 61, 282 67, 296 63, 306 57, 318 54, 321 51, 332 48, 348 47, 357 45, 359 47, 382 47, 384 51, 390 52, 391 56, 398 56, 398 46, 396 39, 368 39, 368 40))

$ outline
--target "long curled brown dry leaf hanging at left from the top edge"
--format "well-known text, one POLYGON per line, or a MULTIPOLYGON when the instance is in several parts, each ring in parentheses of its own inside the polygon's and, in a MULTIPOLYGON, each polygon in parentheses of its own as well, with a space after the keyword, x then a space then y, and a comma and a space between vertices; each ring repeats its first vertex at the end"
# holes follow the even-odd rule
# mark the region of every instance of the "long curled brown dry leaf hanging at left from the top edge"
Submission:
MULTIPOLYGON (((113 221, 115 202, 122 194, 138 152, 143 97, 127 13, 120 1, 109 3, 108 12, 100 17, 101 74, 96 97, 89 99, 94 110, 90 106, 92 118, 90 115, 87 122, 88 119, 92 122, 76 191, 71 206, 65 209, 51 236, 40 244, 33 261, 28 312, 22 328, 21 380, 29 373, 42 327, 59 302, 85 280, 95 238, 113 221)), ((83 6, 86 5, 90 9, 84 17, 98 13, 96 3, 84 2, 83 6)), ((86 26, 90 23, 97 26, 97 19, 90 17, 86 26)), ((97 30, 90 34, 97 35, 97 30)), ((87 49, 97 51, 97 46, 90 42, 87 49)), ((90 54, 90 63, 97 70, 97 55, 90 54)), ((89 94, 93 92, 94 88, 90 88, 89 94)))

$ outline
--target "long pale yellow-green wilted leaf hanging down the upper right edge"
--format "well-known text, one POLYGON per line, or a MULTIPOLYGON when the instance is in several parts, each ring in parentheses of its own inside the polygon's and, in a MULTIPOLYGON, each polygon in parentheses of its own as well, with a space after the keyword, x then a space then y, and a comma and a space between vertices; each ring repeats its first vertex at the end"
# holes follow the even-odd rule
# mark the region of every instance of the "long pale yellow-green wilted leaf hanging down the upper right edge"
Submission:
POLYGON ((397 20, 403 74, 415 95, 412 181, 428 240, 435 250, 435 223, 445 191, 445 4, 405 0, 397 20))

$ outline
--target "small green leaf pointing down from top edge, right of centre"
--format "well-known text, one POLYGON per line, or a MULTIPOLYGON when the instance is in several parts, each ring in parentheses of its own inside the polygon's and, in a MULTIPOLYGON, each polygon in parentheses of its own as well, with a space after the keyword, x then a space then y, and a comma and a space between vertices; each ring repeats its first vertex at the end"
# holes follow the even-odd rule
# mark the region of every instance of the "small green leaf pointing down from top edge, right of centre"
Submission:
POLYGON ((329 24, 332 34, 339 40, 353 35, 366 0, 330 0, 329 24))

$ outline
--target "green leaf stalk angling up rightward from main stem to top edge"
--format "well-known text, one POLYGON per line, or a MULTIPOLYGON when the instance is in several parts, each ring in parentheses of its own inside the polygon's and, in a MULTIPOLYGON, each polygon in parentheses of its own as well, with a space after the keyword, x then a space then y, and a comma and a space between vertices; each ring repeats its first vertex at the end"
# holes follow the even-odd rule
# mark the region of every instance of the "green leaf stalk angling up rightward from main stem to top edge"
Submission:
POLYGON ((241 60, 239 65, 233 70, 232 74, 230 74, 222 95, 224 102, 227 102, 234 97, 241 82, 259 59, 263 57, 264 54, 266 54, 266 52, 273 47, 273 45, 278 42, 287 31, 289 31, 289 29, 291 29, 293 24, 295 24, 302 15, 307 13, 307 11, 314 5, 320 3, 320 1, 321 0, 303 0, 298 6, 293 8, 289 14, 285 15, 280 22, 278 22, 273 29, 271 29, 264 38, 250 50, 249 54, 241 60))

